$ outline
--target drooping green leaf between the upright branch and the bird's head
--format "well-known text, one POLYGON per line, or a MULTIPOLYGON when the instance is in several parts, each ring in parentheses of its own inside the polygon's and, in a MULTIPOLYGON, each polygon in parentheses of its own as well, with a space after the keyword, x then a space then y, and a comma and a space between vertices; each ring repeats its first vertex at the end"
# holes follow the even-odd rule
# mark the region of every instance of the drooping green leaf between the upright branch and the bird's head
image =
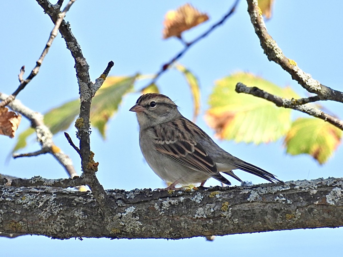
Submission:
POLYGON ((91 105, 91 126, 105 138, 106 124, 118 110, 123 95, 133 89, 137 75, 132 77, 107 77, 95 94, 91 105))

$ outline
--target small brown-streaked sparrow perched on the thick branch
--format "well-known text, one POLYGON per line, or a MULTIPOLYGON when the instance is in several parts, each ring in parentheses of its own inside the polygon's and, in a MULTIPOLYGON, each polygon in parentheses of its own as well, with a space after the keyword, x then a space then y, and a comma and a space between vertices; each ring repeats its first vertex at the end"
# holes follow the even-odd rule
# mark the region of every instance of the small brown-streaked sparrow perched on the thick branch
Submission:
POLYGON ((142 95, 130 111, 137 115, 139 146, 146 162, 156 175, 171 183, 160 190, 177 190, 177 184, 203 186, 211 177, 231 185, 220 172, 243 182, 232 172, 234 169, 283 183, 268 171, 224 151, 200 127, 183 117, 165 95, 142 95))

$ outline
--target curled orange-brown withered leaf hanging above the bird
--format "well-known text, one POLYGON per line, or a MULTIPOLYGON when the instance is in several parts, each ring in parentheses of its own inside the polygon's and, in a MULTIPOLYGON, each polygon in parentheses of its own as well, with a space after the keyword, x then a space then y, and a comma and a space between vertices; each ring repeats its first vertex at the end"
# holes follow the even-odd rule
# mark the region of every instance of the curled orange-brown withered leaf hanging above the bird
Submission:
POLYGON ((181 33, 209 19, 206 13, 200 13, 189 3, 182 5, 176 11, 168 11, 163 21, 163 39, 181 37, 181 33))

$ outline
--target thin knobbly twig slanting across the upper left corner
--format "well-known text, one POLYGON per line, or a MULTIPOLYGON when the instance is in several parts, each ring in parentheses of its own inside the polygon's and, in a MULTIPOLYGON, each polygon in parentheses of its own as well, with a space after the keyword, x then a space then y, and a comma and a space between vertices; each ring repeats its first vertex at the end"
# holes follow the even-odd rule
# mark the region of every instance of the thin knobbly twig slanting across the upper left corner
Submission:
MULTIPOLYGON (((40 55, 38 61, 36 62, 36 66, 35 68, 33 68, 33 70, 31 71, 31 73, 28 75, 28 77, 23 80, 22 77, 19 77, 19 81, 20 81, 20 85, 19 87, 12 93, 12 95, 9 95, 8 98, 4 99, 1 103, 0 103, 0 107, 4 107, 6 105, 8 105, 10 102, 12 102, 16 96, 19 94, 19 92, 21 90, 23 90, 25 88, 25 86, 38 74, 39 72, 39 68, 42 65, 42 62, 46 56, 46 54, 48 53, 50 46, 52 44, 52 41, 54 41, 55 37, 57 36, 57 31, 59 26, 61 25, 61 22, 63 21, 64 16, 66 16, 66 13, 68 12, 68 10, 70 9, 71 5, 75 2, 76 0, 69 0, 68 4, 66 5, 66 7, 63 9, 63 11, 61 13, 58 14, 58 19, 56 20, 55 26, 52 29, 51 33, 50 33, 50 37, 48 39, 48 42, 45 45, 45 48, 43 49, 42 54, 40 55)), ((22 70, 24 70, 25 66, 22 67, 22 70)), ((22 74, 22 70, 21 73, 22 74)), ((23 71, 24 74, 24 71, 23 71)))

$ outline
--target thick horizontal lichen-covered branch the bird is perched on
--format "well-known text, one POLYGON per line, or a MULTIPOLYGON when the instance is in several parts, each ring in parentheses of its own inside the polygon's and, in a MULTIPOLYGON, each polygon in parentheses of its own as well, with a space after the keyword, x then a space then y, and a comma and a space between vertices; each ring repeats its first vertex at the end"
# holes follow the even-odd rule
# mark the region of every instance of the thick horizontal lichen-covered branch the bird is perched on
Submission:
POLYGON ((54 238, 188 238, 343 226, 343 179, 168 192, 107 191, 106 223, 90 192, 0 187, 0 231, 54 238), (38 208, 37 208, 38 206, 38 208), (76 221, 76 222, 75 222, 76 221))

